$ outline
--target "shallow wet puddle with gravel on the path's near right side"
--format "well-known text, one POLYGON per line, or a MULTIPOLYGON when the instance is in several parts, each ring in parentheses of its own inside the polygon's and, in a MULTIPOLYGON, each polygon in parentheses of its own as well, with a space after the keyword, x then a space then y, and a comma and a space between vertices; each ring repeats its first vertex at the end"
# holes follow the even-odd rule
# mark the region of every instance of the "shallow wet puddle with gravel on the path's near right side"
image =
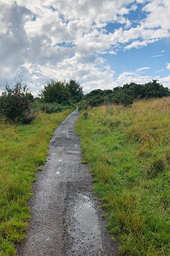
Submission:
POLYGON ((102 240, 93 201, 85 194, 76 195, 73 201, 70 215, 67 216, 69 241, 72 244, 67 255, 102 255, 102 240))

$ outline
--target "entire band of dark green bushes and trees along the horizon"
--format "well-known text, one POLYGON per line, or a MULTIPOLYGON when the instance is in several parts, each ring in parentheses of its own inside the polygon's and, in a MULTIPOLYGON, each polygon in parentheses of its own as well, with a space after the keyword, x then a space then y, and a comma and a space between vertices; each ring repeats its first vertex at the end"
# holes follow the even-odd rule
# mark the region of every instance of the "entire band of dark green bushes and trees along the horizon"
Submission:
POLYGON ((28 92, 27 85, 22 85, 21 79, 15 81, 12 89, 6 84, 0 98, 0 118, 27 124, 36 119, 40 111, 53 113, 68 107, 74 108, 78 103, 80 110, 113 102, 126 107, 136 98, 168 97, 170 91, 156 80, 152 80, 147 84, 131 82, 113 89, 94 89, 84 95, 80 84, 71 79, 68 82, 48 81, 38 95, 39 97, 34 98, 31 92, 28 92))

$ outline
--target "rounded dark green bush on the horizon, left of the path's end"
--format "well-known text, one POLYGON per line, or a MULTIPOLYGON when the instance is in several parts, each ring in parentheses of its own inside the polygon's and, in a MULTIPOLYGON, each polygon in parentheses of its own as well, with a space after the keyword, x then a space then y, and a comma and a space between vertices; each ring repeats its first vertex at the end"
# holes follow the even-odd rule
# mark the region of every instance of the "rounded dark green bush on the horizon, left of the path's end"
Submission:
POLYGON ((77 103, 83 97, 83 89, 80 84, 74 80, 70 82, 53 81, 47 82, 44 85, 44 89, 40 91, 40 97, 45 103, 58 103, 63 105, 69 105, 71 103, 77 103))

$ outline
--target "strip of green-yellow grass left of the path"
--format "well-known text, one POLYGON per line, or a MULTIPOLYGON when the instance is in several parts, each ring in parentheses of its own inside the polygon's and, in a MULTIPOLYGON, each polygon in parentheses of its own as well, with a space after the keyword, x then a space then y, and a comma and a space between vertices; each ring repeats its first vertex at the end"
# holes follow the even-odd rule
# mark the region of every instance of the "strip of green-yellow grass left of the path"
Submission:
POLYGON ((29 125, 0 124, 0 255, 15 255, 30 220, 27 200, 38 165, 45 164, 48 143, 59 123, 73 110, 41 114, 29 125))

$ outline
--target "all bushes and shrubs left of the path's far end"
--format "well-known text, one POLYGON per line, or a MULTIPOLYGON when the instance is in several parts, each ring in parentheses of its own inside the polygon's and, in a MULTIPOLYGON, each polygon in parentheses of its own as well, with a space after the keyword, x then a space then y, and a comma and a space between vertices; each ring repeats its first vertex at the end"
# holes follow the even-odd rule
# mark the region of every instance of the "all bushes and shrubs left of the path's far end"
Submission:
POLYGON ((40 98, 34 98, 28 92, 22 79, 15 81, 14 88, 6 84, 5 92, 0 97, 0 118, 13 123, 29 124, 40 113, 57 113, 67 108, 75 108, 83 97, 83 88, 74 80, 69 82, 47 82, 40 91, 40 98))

